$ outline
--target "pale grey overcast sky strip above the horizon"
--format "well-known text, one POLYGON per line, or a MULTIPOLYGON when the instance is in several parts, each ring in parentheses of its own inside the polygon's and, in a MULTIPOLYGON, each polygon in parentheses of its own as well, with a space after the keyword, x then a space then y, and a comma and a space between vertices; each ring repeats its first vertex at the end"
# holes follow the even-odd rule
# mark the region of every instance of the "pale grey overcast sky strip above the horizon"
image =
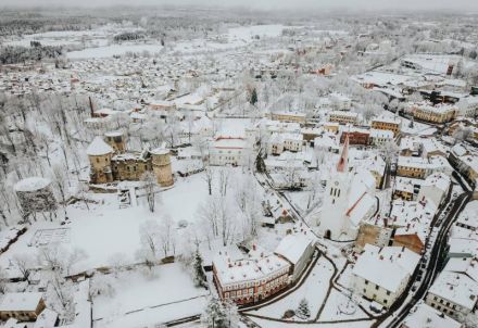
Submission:
POLYGON ((477 12, 478 0, 0 0, 0 5, 177 4, 232 5, 253 9, 444 10, 477 12))

